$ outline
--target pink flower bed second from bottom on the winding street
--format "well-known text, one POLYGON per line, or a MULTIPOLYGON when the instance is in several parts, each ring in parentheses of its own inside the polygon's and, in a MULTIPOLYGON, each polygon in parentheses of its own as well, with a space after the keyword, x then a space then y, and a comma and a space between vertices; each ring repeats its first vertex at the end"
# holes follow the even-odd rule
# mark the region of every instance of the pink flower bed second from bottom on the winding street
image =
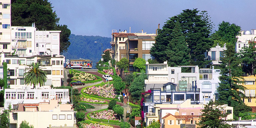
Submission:
POLYGON ((92 112, 89 117, 94 119, 118 120, 117 114, 113 110, 104 110, 100 112, 92 112))

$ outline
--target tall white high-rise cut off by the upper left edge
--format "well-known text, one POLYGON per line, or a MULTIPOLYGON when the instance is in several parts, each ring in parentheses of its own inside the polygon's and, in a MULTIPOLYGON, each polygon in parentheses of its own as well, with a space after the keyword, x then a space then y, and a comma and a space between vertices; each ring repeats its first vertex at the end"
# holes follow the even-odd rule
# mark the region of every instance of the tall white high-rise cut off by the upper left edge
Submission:
POLYGON ((10 55, 11 51, 11 0, 0 1, 0 52, 10 55))

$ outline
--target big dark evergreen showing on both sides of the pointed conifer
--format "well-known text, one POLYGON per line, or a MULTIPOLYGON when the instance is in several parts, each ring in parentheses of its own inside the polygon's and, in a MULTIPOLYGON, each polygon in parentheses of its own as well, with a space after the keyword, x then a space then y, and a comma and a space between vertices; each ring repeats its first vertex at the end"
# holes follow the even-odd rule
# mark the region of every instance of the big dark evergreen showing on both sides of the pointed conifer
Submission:
POLYGON ((165 50, 168 49, 169 41, 174 38, 173 29, 175 23, 179 22, 185 41, 190 49, 191 64, 203 67, 209 63, 209 61, 204 60, 204 53, 209 51, 213 45, 213 41, 209 38, 211 22, 208 20, 209 16, 205 18, 205 15, 199 15, 198 12, 197 9, 183 10, 181 14, 173 16, 166 21, 162 30, 158 29, 156 43, 151 48, 151 54, 157 61, 163 63, 168 60, 165 50))

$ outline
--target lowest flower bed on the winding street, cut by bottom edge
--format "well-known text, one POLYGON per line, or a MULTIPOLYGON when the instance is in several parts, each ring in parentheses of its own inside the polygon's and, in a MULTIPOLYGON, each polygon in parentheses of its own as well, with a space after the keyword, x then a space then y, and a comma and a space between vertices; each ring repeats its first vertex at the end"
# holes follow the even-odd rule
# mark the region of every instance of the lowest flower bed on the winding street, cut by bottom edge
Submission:
POLYGON ((78 122, 78 124, 81 126, 81 128, 113 128, 113 126, 97 123, 91 120, 83 120, 78 122))

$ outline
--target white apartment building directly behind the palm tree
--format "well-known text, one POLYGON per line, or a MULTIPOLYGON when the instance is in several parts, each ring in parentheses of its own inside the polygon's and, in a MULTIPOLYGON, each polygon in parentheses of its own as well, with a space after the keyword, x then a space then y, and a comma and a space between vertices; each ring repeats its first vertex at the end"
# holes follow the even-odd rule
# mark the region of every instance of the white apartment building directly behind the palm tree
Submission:
MULTIPOLYGON (((61 78, 64 78, 64 62, 65 57, 59 56, 30 56, 30 57, 18 57, 18 56, 4 56, 2 53, 1 63, 7 63, 7 83, 10 88, 21 89, 23 87, 34 88, 33 85, 24 84, 24 73, 26 68, 31 63, 40 63, 43 66, 43 70, 47 72, 47 81, 45 86, 36 88, 51 88, 61 86, 61 78)), ((1 68, 0 68, 1 69, 1 68)))

